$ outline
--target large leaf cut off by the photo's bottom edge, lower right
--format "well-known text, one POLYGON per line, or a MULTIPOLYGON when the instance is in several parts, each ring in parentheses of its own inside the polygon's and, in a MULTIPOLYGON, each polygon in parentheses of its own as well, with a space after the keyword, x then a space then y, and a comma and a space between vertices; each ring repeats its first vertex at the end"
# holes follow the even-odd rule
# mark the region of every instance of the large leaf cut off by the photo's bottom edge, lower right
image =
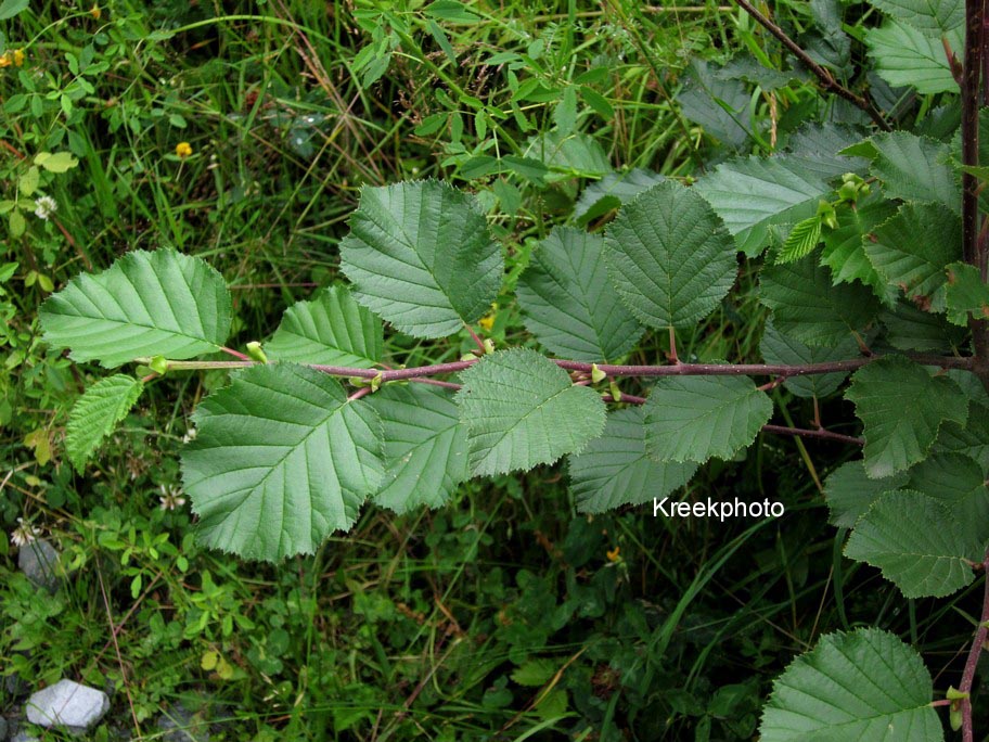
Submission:
POLYGON ((876 628, 836 631, 801 654, 775 682, 760 742, 942 742, 924 661, 876 628))

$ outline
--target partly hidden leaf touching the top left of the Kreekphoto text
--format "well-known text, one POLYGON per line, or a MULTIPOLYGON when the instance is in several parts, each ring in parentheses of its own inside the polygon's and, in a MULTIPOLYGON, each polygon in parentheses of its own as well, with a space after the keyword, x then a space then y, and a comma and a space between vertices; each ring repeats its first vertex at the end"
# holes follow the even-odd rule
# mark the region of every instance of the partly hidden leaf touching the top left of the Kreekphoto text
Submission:
POLYGON ((690 482, 697 464, 653 461, 645 452, 645 410, 609 412, 604 433, 569 458, 570 495, 581 513, 651 502, 690 482))

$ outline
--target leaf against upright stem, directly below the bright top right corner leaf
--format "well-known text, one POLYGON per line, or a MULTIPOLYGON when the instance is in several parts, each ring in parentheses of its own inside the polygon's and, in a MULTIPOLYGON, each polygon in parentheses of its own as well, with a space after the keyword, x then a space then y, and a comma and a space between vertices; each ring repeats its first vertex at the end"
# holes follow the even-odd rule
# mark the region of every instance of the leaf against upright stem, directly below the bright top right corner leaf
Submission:
POLYGON ((870 171, 883 183, 886 197, 938 202, 959 209, 962 192, 954 169, 948 165, 948 144, 909 131, 876 135, 870 142, 876 150, 870 171))

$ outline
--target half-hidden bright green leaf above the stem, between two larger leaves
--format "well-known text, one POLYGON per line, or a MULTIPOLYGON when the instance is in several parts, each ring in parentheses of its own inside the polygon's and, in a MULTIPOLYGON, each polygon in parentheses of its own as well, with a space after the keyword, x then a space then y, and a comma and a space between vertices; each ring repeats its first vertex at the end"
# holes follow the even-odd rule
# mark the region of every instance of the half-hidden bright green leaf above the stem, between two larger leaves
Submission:
POLYGON ((333 286, 286 309, 265 350, 272 359, 369 369, 384 355, 384 333, 346 286, 333 286))

